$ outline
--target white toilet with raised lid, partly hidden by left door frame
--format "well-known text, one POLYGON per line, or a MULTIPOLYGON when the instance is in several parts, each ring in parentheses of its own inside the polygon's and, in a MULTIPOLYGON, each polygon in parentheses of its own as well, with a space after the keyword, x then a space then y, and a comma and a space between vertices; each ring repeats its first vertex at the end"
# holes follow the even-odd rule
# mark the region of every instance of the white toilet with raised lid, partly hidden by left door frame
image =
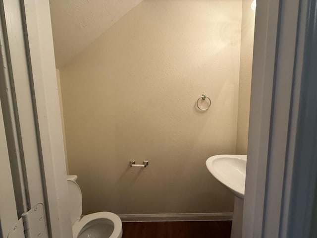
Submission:
POLYGON ((96 212, 82 216, 82 196, 76 179, 76 175, 67 176, 73 238, 121 238, 122 223, 116 214, 96 212))

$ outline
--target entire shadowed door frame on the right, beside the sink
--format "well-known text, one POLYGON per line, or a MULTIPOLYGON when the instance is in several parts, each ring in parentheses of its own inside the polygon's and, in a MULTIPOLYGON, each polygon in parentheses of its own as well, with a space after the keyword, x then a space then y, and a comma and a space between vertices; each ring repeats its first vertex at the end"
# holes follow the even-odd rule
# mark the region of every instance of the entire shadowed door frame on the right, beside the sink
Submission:
POLYGON ((309 237, 317 190, 316 7, 316 0, 257 4, 243 238, 309 237))

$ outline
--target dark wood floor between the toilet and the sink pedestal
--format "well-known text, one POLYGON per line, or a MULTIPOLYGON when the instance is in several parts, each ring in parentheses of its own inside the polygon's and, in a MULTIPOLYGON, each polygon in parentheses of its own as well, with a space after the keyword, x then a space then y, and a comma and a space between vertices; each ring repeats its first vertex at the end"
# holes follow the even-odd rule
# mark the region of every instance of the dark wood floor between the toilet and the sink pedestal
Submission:
POLYGON ((122 238, 230 238, 231 221, 125 222, 122 238))

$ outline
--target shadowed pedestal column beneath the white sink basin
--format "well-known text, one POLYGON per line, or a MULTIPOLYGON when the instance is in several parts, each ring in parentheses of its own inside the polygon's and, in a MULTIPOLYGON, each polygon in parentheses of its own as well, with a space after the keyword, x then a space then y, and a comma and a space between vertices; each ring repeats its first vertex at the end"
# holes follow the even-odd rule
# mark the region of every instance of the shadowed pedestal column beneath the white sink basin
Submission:
POLYGON ((242 238, 242 217, 243 199, 235 196, 230 238, 242 238))

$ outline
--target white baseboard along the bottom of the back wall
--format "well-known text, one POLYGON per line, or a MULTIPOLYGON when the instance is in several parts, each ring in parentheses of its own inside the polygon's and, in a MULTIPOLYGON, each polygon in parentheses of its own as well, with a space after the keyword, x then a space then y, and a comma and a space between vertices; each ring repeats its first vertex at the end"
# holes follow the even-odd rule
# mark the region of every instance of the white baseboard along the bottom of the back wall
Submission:
POLYGON ((121 214, 122 222, 231 221, 232 212, 121 214))

